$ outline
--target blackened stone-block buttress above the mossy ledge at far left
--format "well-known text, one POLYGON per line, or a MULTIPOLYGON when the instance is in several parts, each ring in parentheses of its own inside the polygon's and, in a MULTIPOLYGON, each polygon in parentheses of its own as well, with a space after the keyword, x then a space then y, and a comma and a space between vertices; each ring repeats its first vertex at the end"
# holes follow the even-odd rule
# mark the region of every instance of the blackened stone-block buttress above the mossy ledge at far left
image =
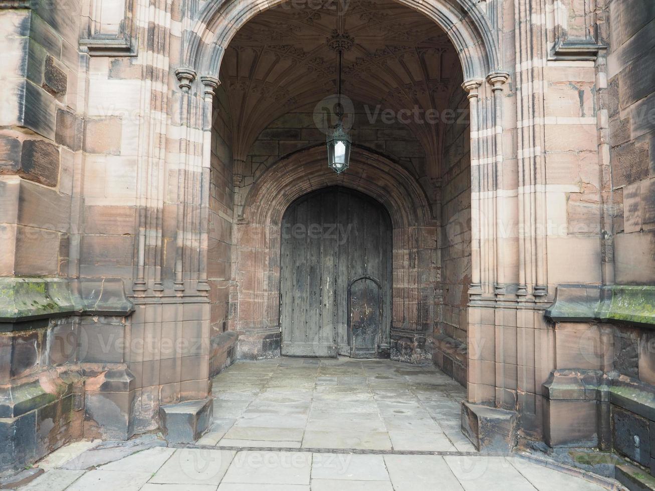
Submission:
POLYGON ((75 1, 0 10, 2 276, 67 275, 73 167, 84 144, 75 114, 80 14, 75 1))

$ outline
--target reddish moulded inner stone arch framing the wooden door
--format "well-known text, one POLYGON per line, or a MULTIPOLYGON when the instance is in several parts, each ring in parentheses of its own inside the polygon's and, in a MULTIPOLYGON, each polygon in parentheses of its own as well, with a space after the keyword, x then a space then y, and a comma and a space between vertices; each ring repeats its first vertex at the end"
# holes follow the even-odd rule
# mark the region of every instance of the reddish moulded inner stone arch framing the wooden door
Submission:
POLYGON ((391 355, 419 361, 426 333, 434 322, 434 300, 422 299, 420 278, 436 276, 433 263, 409 261, 437 247, 438 222, 431 216, 419 183, 402 166, 369 150, 356 148, 352 168, 337 175, 324 162, 323 147, 284 158, 250 190, 236 224, 238 306, 236 329, 242 357, 279 353, 280 225, 288 206, 307 192, 338 185, 364 192, 389 211, 396 258, 392 295, 391 355), (406 258, 406 259, 405 259, 406 258), (433 304, 430 306, 426 302, 433 304))

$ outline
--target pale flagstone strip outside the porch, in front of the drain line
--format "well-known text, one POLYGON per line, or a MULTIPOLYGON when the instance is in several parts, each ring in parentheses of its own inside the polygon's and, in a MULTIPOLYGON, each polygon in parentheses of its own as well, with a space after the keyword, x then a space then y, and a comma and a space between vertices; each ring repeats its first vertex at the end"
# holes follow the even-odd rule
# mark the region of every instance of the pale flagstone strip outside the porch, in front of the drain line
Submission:
MULTIPOLYGON (((86 450, 92 452, 92 450, 86 450)), ((519 456, 332 454, 156 446, 88 471, 50 469, 23 491, 600 491, 519 456)))

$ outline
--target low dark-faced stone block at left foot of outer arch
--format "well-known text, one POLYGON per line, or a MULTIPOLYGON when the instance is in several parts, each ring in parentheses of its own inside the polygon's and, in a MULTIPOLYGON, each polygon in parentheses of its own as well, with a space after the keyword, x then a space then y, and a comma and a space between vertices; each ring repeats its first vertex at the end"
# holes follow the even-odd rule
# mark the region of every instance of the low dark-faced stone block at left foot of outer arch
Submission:
POLYGON ((211 397, 159 407, 159 426, 168 443, 195 443, 212 421, 211 397))

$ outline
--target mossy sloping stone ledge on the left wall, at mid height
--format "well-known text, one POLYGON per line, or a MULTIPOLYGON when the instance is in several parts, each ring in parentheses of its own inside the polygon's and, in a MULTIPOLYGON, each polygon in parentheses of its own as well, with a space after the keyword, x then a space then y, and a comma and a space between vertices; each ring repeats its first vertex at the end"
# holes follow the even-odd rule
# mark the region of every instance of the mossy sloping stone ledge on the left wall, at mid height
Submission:
POLYGON ((33 321, 71 314, 127 316, 133 311, 122 280, 0 278, 0 332, 45 327, 33 321))

